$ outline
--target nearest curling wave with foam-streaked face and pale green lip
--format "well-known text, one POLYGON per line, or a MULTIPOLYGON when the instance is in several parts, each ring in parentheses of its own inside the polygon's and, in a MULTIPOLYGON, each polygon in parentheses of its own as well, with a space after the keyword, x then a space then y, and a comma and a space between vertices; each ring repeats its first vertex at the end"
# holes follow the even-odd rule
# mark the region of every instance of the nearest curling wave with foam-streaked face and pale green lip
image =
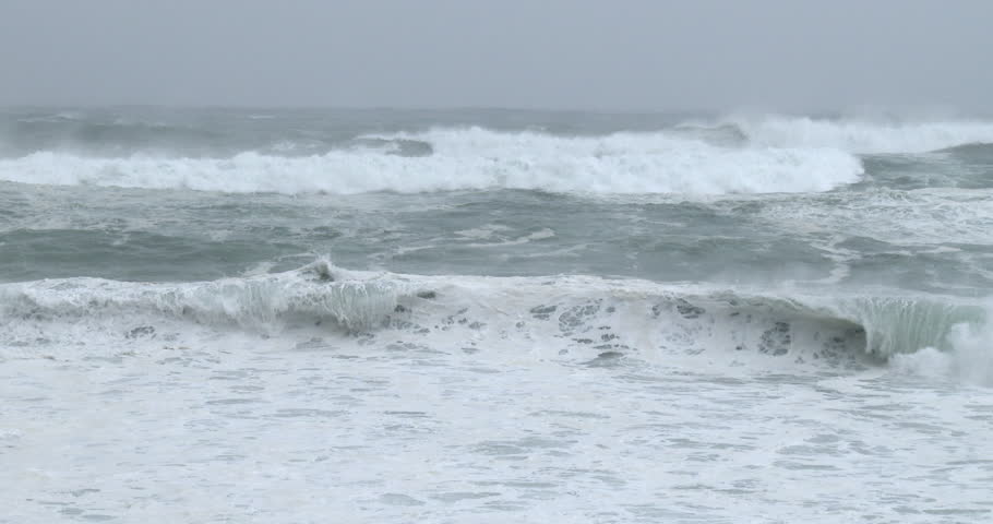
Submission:
POLYGON ((844 365, 952 349, 955 326, 980 325, 985 314, 978 303, 931 297, 763 294, 584 276, 375 274, 319 261, 288 273, 192 284, 69 278, 2 285, 0 356, 67 344, 80 330, 104 345, 171 341, 193 323, 288 341, 298 332, 439 348, 486 341, 488 350, 541 347, 551 358, 665 360, 707 353, 844 365), (67 341, 59 340, 63 331, 67 341), (47 344, 39 344, 39 333, 47 344))

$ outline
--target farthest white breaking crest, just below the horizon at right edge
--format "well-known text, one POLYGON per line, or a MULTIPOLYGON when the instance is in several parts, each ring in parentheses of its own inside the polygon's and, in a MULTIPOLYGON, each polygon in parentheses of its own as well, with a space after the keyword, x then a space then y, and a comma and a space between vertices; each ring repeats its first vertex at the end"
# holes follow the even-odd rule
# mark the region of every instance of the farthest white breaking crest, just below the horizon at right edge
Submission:
POLYGON ((993 143, 993 122, 872 121, 807 117, 729 117, 754 145, 828 147, 850 153, 926 153, 957 145, 993 143))

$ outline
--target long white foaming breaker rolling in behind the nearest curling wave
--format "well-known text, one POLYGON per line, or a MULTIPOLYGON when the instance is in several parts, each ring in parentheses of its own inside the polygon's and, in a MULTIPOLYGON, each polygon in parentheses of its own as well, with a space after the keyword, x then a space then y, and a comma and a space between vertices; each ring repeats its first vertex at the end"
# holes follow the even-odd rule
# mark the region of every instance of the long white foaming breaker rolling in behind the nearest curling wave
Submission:
POLYGON ((0 180, 224 192, 819 192, 859 180, 854 156, 811 147, 726 147, 666 133, 569 138, 479 128, 367 135, 312 156, 229 158, 38 152, 0 160, 0 180), (387 145, 388 147, 384 147, 387 145))

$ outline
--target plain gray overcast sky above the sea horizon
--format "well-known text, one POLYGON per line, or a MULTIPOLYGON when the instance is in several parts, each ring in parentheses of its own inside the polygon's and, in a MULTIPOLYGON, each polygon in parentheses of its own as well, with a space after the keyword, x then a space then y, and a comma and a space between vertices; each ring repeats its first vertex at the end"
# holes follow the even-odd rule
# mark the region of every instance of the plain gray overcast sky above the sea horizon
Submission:
POLYGON ((985 0, 0 0, 0 104, 993 109, 985 0))

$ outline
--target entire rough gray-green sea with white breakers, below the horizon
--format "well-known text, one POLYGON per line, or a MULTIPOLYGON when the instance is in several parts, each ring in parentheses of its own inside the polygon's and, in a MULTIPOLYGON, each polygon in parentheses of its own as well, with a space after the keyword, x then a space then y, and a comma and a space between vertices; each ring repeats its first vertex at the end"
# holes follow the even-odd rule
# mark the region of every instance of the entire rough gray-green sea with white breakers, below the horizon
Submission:
POLYGON ((989 522, 993 120, 0 111, 0 522, 989 522))

